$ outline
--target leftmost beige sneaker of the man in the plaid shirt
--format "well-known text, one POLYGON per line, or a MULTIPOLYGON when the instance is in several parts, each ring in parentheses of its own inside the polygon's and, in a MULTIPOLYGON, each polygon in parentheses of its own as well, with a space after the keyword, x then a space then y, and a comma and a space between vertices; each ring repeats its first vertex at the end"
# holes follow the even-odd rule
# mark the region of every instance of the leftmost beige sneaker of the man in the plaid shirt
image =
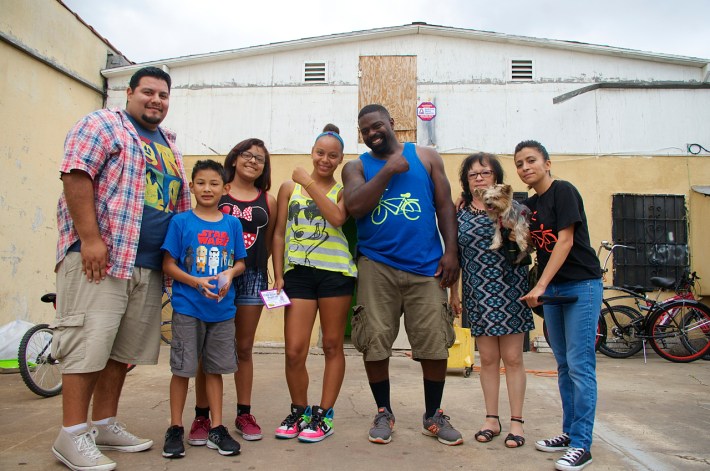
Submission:
POLYGON ((81 433, 69 433, 64 429, 54 441, 52 453, 59 461, 74 471, 109 471, 116 469, 116 462, 105 457, 96 448, 97 430, 94 427, 81 433))

